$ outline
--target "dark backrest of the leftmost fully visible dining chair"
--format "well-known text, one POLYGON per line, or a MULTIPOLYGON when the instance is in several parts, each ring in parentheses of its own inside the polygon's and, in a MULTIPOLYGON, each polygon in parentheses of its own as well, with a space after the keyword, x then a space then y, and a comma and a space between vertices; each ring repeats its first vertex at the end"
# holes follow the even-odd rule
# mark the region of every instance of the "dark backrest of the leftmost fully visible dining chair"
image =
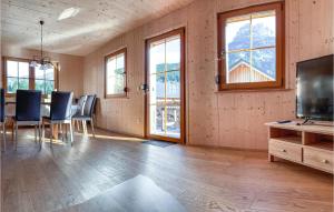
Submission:
POLYGON ((17 90, 16 120, 40 121, 41 91, 17 90))

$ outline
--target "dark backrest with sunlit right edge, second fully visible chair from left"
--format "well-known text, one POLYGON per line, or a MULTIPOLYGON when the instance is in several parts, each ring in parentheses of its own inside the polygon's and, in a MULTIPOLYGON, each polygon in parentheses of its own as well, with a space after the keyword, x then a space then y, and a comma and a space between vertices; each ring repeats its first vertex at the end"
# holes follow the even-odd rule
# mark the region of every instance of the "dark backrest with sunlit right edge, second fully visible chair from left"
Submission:
POLYGON ((72 92, 53 91, 51 94, 50 119, 71 119, 72 92))

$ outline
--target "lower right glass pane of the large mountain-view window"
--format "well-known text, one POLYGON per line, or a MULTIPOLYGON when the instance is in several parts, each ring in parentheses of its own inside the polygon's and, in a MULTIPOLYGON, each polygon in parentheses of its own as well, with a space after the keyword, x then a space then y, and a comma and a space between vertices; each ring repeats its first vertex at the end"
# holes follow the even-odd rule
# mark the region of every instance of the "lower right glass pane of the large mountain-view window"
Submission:
POLYGON ((252 82, 275 81, 276 51, 275 48, 252 51, 253 74, 252 82))

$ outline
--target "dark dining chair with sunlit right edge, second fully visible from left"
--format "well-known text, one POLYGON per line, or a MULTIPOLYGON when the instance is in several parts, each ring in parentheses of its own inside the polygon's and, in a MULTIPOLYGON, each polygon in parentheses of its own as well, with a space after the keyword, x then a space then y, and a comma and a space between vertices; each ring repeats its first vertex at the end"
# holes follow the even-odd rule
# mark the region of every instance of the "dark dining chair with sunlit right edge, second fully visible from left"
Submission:
MULTIPOLYGON (((51 105, 49 117, 42 118, 42 140, 46 135, 46 124, 50 125, 50 147, 53 143, 53 124, 69 124, 70 142, 73 145, 73 131, 71 122, 71 105, 72 105, 72 92, 53 91, 51 94, 51 105)), ((67 135, 66 130, 66 135, 67 135)))

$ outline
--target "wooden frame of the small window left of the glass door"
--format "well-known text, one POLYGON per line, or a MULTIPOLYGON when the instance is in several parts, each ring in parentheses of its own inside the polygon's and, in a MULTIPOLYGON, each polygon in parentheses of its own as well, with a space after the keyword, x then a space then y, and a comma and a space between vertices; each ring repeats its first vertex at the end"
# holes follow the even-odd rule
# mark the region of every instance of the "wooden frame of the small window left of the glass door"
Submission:
POLYGON ((105 99, 112 99, 112 98, 127 98, 128 95, 128 70, 127 70, 127 48, 119 49, 110 54, 107 54, 105 57, 105 99), (124 53, 124 80, 125 80, 125 87, 122 93, 114 93, 114 94, 108 94, 107 93, 107 85, 108 85, 108 79, 107 79, 107 62, 109 58, 114 58, 118 54, 124 53))

